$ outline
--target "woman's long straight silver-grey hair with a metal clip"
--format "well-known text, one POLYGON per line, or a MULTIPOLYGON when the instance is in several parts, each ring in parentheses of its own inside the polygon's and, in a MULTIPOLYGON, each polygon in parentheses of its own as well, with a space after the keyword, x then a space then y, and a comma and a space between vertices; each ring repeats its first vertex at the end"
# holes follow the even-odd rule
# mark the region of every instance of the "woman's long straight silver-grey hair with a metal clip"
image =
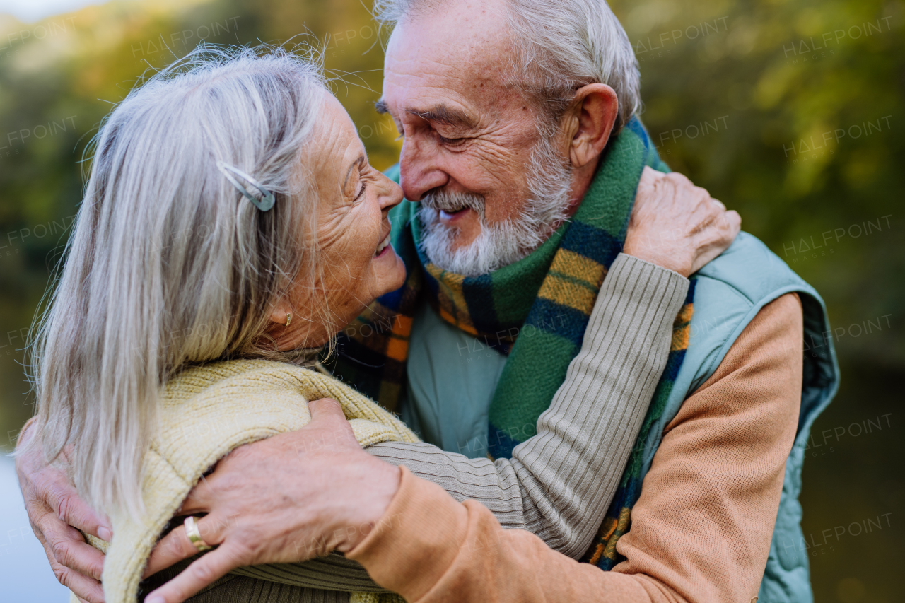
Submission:
POLYGON ((186 363, 267 356, 274 302, 293 281, 317 288, 302 148, 326 91, 310 57, 206 46, 102 124, 32 349, 44 454, 71 458, 95 508, 141 511, 168 378, 186 363), (220 161, 272 191, 275 206, 252 205, 220 161))

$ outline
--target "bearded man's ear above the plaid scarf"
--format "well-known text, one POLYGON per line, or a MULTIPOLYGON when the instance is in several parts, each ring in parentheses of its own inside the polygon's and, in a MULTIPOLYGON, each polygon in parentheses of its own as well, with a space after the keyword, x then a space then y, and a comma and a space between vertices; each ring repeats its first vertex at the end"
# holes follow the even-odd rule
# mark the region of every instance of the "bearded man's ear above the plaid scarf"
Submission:
POLYGON ((583 168, 600 155, 618 115, 619 100, 606 84, 588 84, 576 91, 564 124, 569 136, 568 158, 573 168, 583 168))

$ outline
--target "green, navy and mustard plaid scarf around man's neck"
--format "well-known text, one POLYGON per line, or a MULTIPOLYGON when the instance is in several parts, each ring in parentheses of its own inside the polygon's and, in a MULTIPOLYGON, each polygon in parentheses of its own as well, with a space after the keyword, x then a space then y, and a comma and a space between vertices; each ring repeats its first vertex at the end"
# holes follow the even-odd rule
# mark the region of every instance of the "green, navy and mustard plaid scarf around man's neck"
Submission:
MULTIPOLYGON (((391 211, 392 243, 407 277, 398 291, 372 303, 338 338, 334 374, 395 410, 405 393, 405 360, 414 311, 428 302, 440 317, 471 334, 476 345, 507 355, 490 407, 491 457, 509 457, 537 433, 546 410, 581 349, 588 319, 609 266, 623 248, 644 166, 662 162, 640 120, 633 118, 611 141, 576 214, 519 262, 481 276, 442 270, 419 248, 418 206, 404 201, 391 211)), ((388 172, 397 177, 398 171, 388 172)), ((688 347, 693 282, 676 319, 672 351, 638 444, 587 560, 609 570, 615 542, 628 531, 641 491, 643 442, 672 391, 688 347)))

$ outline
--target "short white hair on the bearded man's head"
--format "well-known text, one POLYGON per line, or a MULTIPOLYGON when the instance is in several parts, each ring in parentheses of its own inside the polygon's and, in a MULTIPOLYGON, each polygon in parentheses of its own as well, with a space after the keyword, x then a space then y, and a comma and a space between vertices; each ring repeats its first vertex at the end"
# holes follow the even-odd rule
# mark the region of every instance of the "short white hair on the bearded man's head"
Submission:
MULTIPOLYGON (((618 131, 641 110, 641 74, 632 43, 605 0, 502 0, 513 45, 510 83, 557 120, 577 88, 605 83, 619 100, 618 131)), ((438 0, 376 0, 376 18, 394 25, 439 10, 438 0)))

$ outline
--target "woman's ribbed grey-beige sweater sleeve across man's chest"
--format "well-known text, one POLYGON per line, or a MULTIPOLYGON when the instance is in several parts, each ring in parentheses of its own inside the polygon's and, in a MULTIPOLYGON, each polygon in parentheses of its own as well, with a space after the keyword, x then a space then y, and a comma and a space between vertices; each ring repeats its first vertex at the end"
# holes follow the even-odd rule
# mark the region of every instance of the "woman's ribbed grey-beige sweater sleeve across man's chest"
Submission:
MULTIPOLYGON (((470 459, 428 444, 383 443, 368 452, 405 465, 457 501, 481 502, 506 528, 534 532, 553 549, 581 556, 647 413, 688 287, 678 273, 619 254, 582 348, 538 419, 538 434, 516 446, 511 459, 470 459)), ((314 589, 382 590, 340 555, 235 573, 314 589)))

